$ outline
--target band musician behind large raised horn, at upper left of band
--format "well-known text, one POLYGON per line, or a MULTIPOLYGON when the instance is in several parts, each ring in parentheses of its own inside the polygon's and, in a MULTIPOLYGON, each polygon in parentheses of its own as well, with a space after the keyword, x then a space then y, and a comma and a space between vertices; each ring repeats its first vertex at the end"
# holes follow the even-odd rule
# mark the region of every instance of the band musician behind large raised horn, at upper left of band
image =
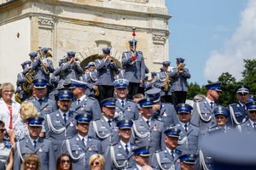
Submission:
POLYGON ((37 58, 34 58, 32 61, 32 71, 35 71, 35 79, 45 79, 49 82, 49 73, 55 71, 52 61, 47 59, 50 49, 42 48, 40 51, 43 56, 37 53, 37 58))

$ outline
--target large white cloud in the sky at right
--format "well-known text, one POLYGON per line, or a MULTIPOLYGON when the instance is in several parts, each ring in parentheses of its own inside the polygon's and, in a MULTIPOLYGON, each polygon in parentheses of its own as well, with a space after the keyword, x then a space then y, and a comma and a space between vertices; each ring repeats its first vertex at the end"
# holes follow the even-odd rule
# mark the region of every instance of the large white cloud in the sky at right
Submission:
POLYGON ((256 58, 256 1, 249 0, 247 8, 241 12, 240 26, 222 52, 212 51, 204 68, 207 80, 217 81, 223 72, 230 72, 237 80, 241 79, 243 59, 256 58))

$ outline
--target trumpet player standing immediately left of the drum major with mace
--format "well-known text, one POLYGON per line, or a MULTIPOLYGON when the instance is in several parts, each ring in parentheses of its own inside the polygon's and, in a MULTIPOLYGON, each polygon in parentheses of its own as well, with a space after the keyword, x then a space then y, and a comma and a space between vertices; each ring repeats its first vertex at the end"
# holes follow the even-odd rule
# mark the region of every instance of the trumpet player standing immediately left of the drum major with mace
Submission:
POLYGON ((119 68, 110 56, 111 48, 102 48, 103 59, 96 59, 95 65, 98 73, 96 85, 99 88, 99 101, 113 97, 113 81, 115 74, 119 74, 119 68))

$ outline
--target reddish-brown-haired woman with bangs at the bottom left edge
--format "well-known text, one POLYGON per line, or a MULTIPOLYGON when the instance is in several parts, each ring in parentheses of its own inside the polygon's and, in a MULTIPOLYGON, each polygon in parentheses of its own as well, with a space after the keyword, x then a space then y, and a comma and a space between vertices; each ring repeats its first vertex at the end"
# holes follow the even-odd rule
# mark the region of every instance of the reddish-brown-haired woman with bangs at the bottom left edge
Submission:
POLYGON ((21 170, 40 170, 41 162, 37 154, 26 154, 21 170))

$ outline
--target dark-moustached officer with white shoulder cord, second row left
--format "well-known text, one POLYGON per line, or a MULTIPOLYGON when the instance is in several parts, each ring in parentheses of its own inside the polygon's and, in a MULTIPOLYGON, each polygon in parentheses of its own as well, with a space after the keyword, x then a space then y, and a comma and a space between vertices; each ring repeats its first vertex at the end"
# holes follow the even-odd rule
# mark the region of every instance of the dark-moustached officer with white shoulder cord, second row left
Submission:
POLYGON ((77 133, 73 111, 70 111, 73 94, 68 90, 62 90, 58 94, 57 105, 59 110, 46 115, 46 137, 52 140, 55 147, 55 157, 61 154, 61 144, 64 139, 77 133))

